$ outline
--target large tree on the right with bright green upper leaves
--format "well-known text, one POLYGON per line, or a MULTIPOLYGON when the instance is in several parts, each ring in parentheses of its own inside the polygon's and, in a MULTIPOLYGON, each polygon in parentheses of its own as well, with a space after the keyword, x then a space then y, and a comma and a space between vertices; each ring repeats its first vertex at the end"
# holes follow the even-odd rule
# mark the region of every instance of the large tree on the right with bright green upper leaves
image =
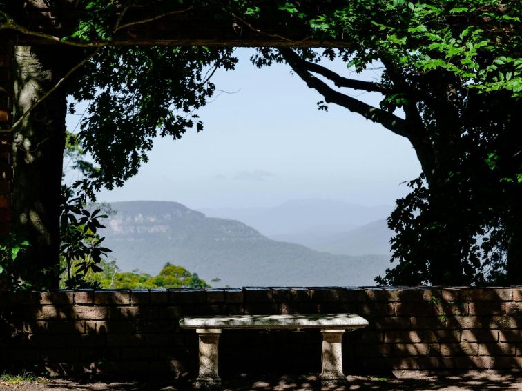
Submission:
POLYGON ((521 283, 521 5, 346 4, 321 15, 308 10, 308 3, 286 7, 325 34, 344 34, 353 42, 327 49, 322 57, 341 57, 358 72, 378 62, 384 68, 380 81, 342 77, 320 65, 322 57, 310 50, 261 49, 253 60, 258 66, 286 61, 326 103, 412 143, 423 174, 389 217, 398 265, 377 281, 521 283), (340 88, 379 93, 380 107, 340 88))

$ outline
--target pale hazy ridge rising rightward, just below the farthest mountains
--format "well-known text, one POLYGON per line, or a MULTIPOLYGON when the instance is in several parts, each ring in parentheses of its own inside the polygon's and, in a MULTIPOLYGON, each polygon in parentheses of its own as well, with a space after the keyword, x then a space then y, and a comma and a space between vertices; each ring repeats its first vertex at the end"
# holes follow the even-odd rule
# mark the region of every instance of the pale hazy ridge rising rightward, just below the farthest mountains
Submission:
POLYGON ((271 239, 306 245, 313 250, 331 252, 331 254, 389 254, 394 232, 389 230, 386 220, 379 219, 371 223, 335 234, 317 234, 297 232, 287 235, 273 235, 271 239))

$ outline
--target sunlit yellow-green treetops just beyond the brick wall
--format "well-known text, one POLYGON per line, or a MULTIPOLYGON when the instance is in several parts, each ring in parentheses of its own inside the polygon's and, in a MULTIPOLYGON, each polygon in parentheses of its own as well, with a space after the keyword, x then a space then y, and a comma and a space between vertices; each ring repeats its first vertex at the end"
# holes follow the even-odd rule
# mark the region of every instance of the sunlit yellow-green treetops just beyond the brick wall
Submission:
POLYGON ((101 261, 102 271, 88 274, 87 279, 107 289, 153 289, 153 288, 210 288, 196 273, 191 273, 181 266, 166 263, 157 276, 151 276, 139 270, 119 272, 115 261, 101 261))

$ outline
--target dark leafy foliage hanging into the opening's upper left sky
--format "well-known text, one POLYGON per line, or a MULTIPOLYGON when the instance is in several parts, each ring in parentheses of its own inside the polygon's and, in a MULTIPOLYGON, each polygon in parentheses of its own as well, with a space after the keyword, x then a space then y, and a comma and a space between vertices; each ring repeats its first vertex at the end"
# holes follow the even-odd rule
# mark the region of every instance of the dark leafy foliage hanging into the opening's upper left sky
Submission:
POLYGON ((212 96, 215 70, 233 68, 231 54, 204 47, 100 50, 70 89, 77 101, 90 101, 75 137, 100 167, 84 170, 75 186, 94 199, 101 186, 122 186, 137 173, 157 135, 179 139, 188 128, 202 130, 193 112, 212 96))

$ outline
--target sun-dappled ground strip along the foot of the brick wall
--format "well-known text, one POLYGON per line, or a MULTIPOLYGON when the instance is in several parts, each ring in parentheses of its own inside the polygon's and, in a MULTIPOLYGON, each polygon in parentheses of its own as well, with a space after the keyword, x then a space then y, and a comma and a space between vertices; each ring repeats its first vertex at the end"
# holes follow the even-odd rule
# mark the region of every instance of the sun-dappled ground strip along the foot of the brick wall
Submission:
MULTIPOLYGON (((468 372, 423 372, 394 371, 383 377, 349 376, 345 385, 320 385, 316 375, 284 377, 240 377, 226 379, 224 391, 247 390, 292 390, 292 391, 342 391, 342 390, 447 390, 447 391, 488 391, 522 390, 522 371, 474 370, 468 372)), ((173 382, 169 379, 149 381, 104 381, 94 379, 32 378, 14 385, 9 381, 0 382, 0 390, 27 391, 69 391, 69 390, 194 390, 191 381, 173 382)))

